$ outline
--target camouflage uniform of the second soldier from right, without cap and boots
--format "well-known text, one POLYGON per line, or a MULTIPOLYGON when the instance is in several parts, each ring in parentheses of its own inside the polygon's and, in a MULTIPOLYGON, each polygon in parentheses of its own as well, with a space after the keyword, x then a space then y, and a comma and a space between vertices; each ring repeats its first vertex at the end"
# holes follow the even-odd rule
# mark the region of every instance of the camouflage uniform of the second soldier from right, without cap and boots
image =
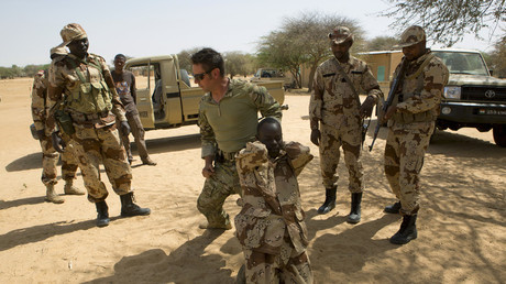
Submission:
MULTIPOLYGON (((349 189, 351 193, 362 193, 364 174, 360 161, 362 143, 360 102, 341 76, 338 64, 340 64, 338 59, 332 57, 318 66, 315 74, 315 92, 309 102, 309 119, 311 129, 318 129, 320 123, 320 167, 323 186, 332 188, 337 185, 339 174, 336 170, 342 146, 344 163, 350 173, 349 189)), ((364 91, 376 102, 383 98, 380 85, 364 62, 350 56, 349 62, 340 65, 358 94, 364 91)))

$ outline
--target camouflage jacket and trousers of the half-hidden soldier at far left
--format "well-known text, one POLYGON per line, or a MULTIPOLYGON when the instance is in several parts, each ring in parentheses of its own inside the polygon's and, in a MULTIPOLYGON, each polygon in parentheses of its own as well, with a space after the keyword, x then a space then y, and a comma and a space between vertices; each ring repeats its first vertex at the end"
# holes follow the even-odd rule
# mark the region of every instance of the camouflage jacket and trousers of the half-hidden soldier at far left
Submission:
MULTIPOLYGON (((47 108, 47 86, 48 80, 45 74, 37 74, 33 80, 32 88, 32 118, 37 131, 44 131, 45 135, 40 140, 42 148, 42 183, 44 185, 55 185, 59 153, 53 149, 51 132, 46 131, 45 122, 48 113, 47 108)), ((76 178, 77 161, 74 156, 74 142, 64 135, 67 144, 62 154, 62 178, 73 181, 76 178)))

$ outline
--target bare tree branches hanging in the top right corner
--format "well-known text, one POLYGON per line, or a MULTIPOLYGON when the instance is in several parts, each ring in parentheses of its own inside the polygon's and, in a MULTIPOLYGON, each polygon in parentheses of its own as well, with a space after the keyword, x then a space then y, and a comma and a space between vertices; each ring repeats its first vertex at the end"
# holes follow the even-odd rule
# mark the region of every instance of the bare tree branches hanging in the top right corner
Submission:
POLYGON ((492 33, 506 21, 505 0, 388 0, 393 8, 384 17, 394 18, 399 30, 411 24, 426 29, 436 42, 452 46, 464 34, 479 37, 483 28, 492 33))

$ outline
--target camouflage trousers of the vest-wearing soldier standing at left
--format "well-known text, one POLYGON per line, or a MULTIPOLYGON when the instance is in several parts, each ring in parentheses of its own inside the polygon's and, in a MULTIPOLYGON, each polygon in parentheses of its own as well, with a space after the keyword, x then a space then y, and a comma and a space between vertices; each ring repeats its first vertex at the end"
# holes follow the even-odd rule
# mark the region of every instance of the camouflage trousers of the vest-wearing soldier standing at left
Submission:
POLYGON ((109 195, 100 179, 100 163, 103 163, 112 189, 118 195, 131 192, 132 170, 116 124, 101 129, 76 127, 74 139, 88 200, 102 201, 109 195))

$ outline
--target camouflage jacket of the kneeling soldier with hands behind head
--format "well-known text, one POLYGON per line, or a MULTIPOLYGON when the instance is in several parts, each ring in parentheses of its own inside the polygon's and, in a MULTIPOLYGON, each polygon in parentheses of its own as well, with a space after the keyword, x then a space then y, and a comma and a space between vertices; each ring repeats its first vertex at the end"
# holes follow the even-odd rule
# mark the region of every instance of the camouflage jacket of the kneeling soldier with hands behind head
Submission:
POLYGON ((289 142, 280 155, 268 159, 261 142, 250 142, 237 155, 242 188, 242 210, 235 216, 235 236, 248 249, 264 253, 283 253, 289 237, 295 250, 304 252, 308 244, 307 229, 297 176, 312 160, 309 148, 289 142))

